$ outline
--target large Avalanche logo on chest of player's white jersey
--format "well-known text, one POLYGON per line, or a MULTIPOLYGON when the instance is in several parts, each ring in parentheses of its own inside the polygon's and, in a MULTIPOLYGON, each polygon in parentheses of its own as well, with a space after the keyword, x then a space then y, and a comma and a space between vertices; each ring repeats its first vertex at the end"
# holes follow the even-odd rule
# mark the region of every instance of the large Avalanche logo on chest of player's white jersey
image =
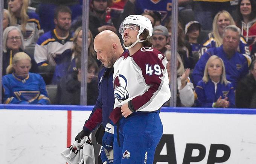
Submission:
POLYGON ((116 77, 114 78, 114 96, 118 102, 123 102, 128 99, 129 93, 125 89, 127 87, 126 78, 117 72, 116 77))

